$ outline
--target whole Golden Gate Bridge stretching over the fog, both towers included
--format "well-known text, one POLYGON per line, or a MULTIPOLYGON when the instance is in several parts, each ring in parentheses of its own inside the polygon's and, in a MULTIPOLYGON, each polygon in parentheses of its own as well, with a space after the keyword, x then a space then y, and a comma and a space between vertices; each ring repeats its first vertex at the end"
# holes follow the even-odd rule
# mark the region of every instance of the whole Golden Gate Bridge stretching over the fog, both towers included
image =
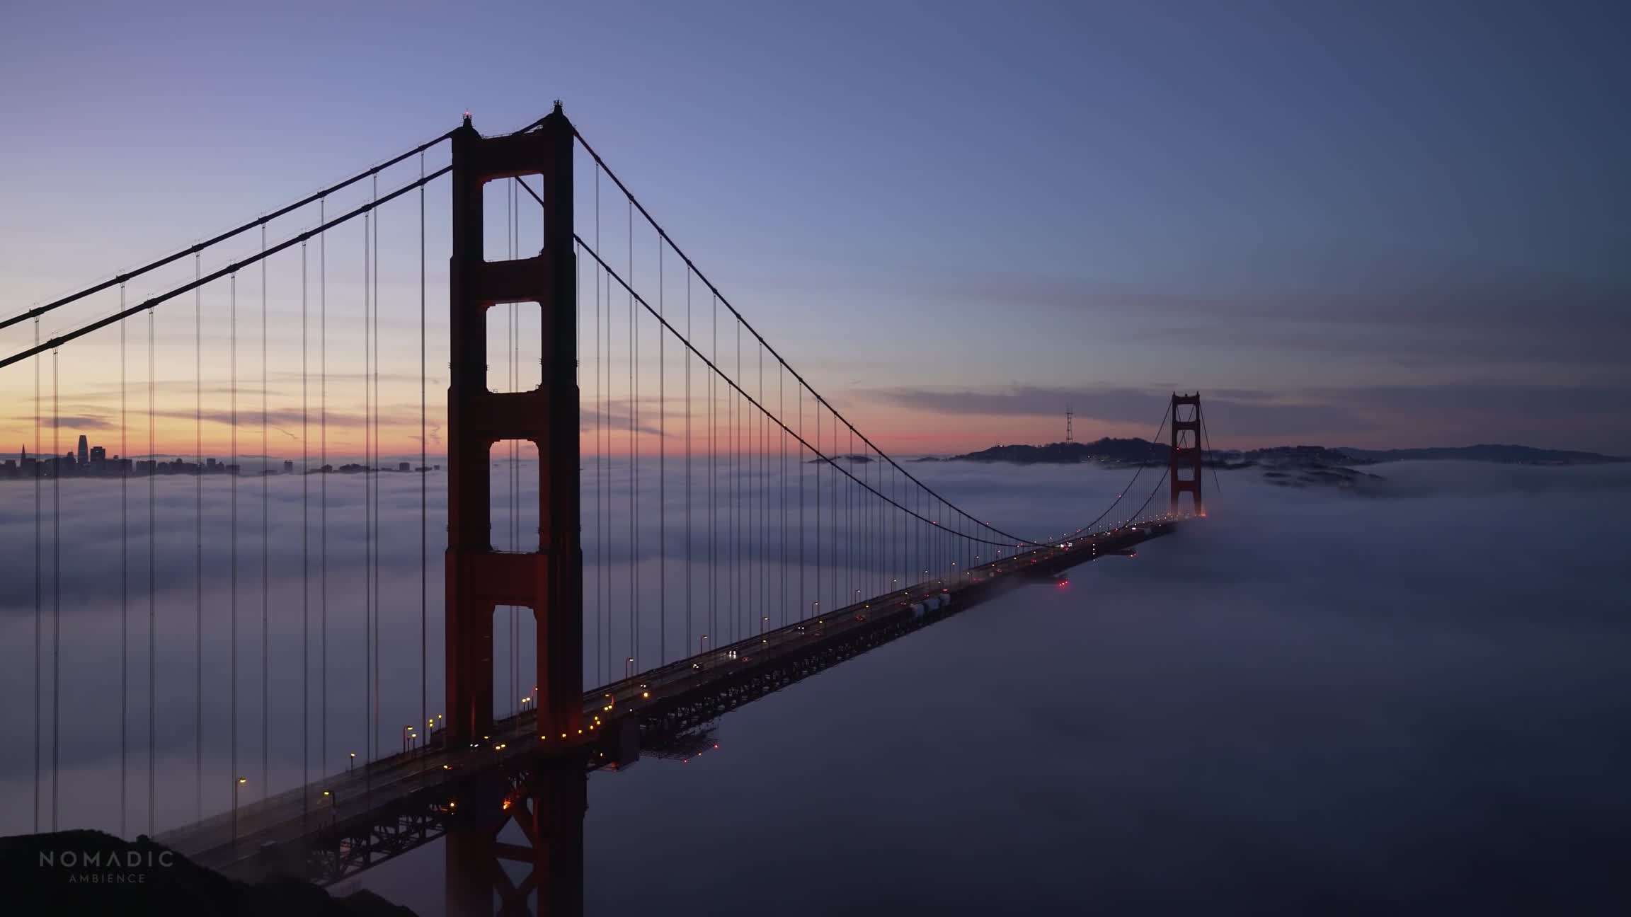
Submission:
MULTIPOLYGON (((64 672, 111 693, 106 658, 77 654, 75 633, 64 646, 78 578, 73 558, 62 556, 62 499, 77 485, 65 483, 75 465, 60 431, 75 427, 75 405, 85 401, 73 380, 111 379, 108 346, 117 334, 119 408, 109 427, 119 454, 101 476, 117 480, 119 550, 117 563, 104 556, 90 576, 119 583, 119 834, 145 827, 232 876, 289 873, 325 884, 444 839, 455 910, 491 910, 494 894, 506 912, 527 910, 533 896, 540 910, 581 910, 587 772, 628 767, 643 751, 695 754, 709 724, 740 703, 1016 583, 1059 581, 1072 566, 1130 553, 1204 516, 1199 393, 1171 396, 1150 457, 1072 530, 1021 535, 954 503, 861 432, 747 321, 559 103, 502 135, 478 134, 466 114, 453 131, 294 204, 5 318, 0 333, 21 334, 0 339, 0 382, 13 392, 33 382, 33 455, 16 475, 31 493, 0 486, 13 516, 29 516, 33 499, 34 831, 65 827, 64 772, 80 762, 72 742, 64 757, 64 713, 70 723, 91 715, 72 708, 64 672), (382 193, 382 178, 395 188, 382 193), (447 189, 445 357, 431 352, 429 248, 440 240, 427 222, 440 204, 429 188, 447 189), (387 256, 403 269, 382 276, 387 219, 387 256), (163 281, 189 266, 191 277, 163 281), (132 303, 135 284, 155 282, 132 303), (114 290, 117 308, 75 313, 114 290), (165 338, 160 317, 170 323, 165 338), (269 341, 285 343, 295 318, 298 398, 294 367, 279 367, 287 385, 274 408, 272 357, 285 348, 269 341), (42 321, 54 325, 42 331, 42 321), (240 372, 241 339, 258 348, 258 374, 240 372), (444 379, 431 367, 442 365, 445 424, 429 395, 444 379), (220 395, 225 410, 214 403, 220 395), (214 465, 206 427, 230 436, 223 521, 217 503, 206 509, 214 465), (431 455, 442 429, 445 475, 431 455), (241 431, 259 434, 248 444, 258 452, 243 454, 241 431), (287 458, 298 516, 276 524, 274 431, 298 445, 298 458, 287 458), (388 442, 400 437, 418 442, 418 462, 398 463, 416 475, 416 494, 387 481, 388 442), (144 447, 147 458, 132 458, 144 447), (336 467, 341 458, 354 462, 336 467), (259 473, 248 473, 251 460, 259 473), (1147 467, 1163 473, 1145 491, 1147 467), (158 483, 184 475, 191 488, 158 483), (445 545, 431 524, 431 490, 444 478, 445 545), (403 535, 398 519, 414 509, 418 552, 403 566, 385 542, 403 535), (259 530, 245 537, 241 517, 259 530), (356 565, 331 569, 336 552, 359 550, 360 576, 356 565), (434 550, 444 552, 439 571, 434 550), (191 569, 191 583, 170 573, 178 566, 191 569), (220 573, 225 600, 206 584, 220 573), (359 615, 360 640, 344 641, 344 658, 339 646, 331 654, 331 625, 359 615), (431 653, 435 618, 440 661, 431 653), (298 622, 300 651, 292 679, 277 671, 276 692, 274 620, 279 633, 298 622), (132 622, 147 640, 145 672, 132 622), (217 633, 206 648, 206 633, 222 623, 225 640, 217 633), (395 641, 411 636, 418 658, 404 661, 395 641), (161 645, 166 658, 184 658, 188 646, 173 645, 189 640, 189 664, 160 667, 161 645), (248 690, 245 666, 254 659, 241 656, 245 641, 261 651, 250 672, 259 685, 248 690), (214 671, 222 645, 223 679, 214 671), (404 669, 418 676, 418 692, 382 689, 382 671, 388 687, 404 669), (294 692, 298 711, 276 715, 274 693, 294 692), (408 710, 413 723, 396 726, 408 710), (144 713, 145 729, 132 738, 144 713), (256 739, 246 726, 259 728, 259 762, 240 757, 256 739), (214 751, 206 767, 222 731, 225 769, 214 751), (161 798, 161 734, 165 767, 192 765, 192 798, 161 798), (191 762, 176 751, 183 746, 191 762), (274 749, 294 746, 298 773, 274 775, 274 749), (135 801, 132 759, 142 772, 135 801), (130 824, 132 808, 145 811, 145 824, 130 824), (160 811, 189 814, 161 824, 160 811), (501 840, 506 824, 527 844, 501 840), (504 860, 522 863, 525 878, 512 881, 504 860)), ((103 393, 111 392, 109 383, 103 393)), ((215 490, 212 501, 222 496, 215 490)), ((279 490, 294 499, 289 485, 279 490)))

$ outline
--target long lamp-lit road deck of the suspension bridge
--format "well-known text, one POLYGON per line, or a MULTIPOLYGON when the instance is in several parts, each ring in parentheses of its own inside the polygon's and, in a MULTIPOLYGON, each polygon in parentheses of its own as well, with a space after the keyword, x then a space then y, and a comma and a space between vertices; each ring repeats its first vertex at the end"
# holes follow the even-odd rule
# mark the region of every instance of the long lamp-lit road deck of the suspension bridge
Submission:
MULTIPOLYGON (((1161 519, 1036 548, 962 571, 956 583, 920 583, 603 685, 584 695, 582 734, 538 736, 537 715, 524 711, 496 721, 493 733, 473 747, 445 747, 440 736, 432 734, 427 747, 387 755, 372 765, 359 764, 349 772, 241 804, 236 826, 232 813, 223 813, 165 832, 158 840, 214 870, 254 876, 274 868, 267 850, 303 850, 321 845, 325 837, 329 842, 356 837, 357 826, 385 817, 404 801, 414 801, 421 813, 427 808, 452 813, 462 788, 473 780, 499 777, 527 760, 571 754, 584 755, 590 769, 613 764, 630 738, 630 726, 643 728, 648 742, 664 741, 833 661, 938 620, 948 607, 961 610, 980 602, 1000 584, 1052 578, 1098 556, 1130 550, 1173 530, 1176 522, 1161 519), (930 604, 938 607, 930 610, 930 604), (838 654, 830 658, 835 649, 838 654), (824 654, 829 659, 822 659, 824 654), (742 685, 755 679, 757 685, 744 692, 742 685)), ((439 834, 421 831, 418 842, 439 834)), ((418 844, 406 848, 413 845, 418 844)), ((360 868, 400 852, 377 860, 364 855, 360 868)), ((279 862, 277 868, 289 868, 289 863, 279 862)))

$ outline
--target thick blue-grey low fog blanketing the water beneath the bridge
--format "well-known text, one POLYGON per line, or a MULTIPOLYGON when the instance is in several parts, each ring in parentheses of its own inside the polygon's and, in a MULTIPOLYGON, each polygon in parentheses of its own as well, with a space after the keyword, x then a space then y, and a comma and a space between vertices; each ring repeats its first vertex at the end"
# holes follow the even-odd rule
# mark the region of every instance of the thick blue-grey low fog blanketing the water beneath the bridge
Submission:
MULTIPOLYGON (((1129 476, 1086 467, 908 467, 1023 535, 1086 522, 1129 476)), ((1254 472, 1225 472, 1213 486, 1209 473, 1210 517, 1150 542, 1137 558, 1078 568, 1067 587, 1018 589, 752 703, 719 723, 718 754, 597 773, 586 822, 589 912, 675 902, 709 914, 1393 912, 1409 902, 1422 912, 1476 904, 1577 914, 1623 904, 1631 465, 1365 470, 1386 478, 1375 494, 1277 488, 1254 472), (631 870, 638 881, 628 879, 631 870)), ((626 473, 626 463, 610 467, 607 480, 626 473)), ((641 506, 654 511, 656 475, 646 463, 641 475, 641 506)), ((626 519, 617 516, 630 512, 626 481, 608 483, 617 490, 608 490, 607 522, 608 542, 625 547, 599 553, 597 465, 586 463, 586 640, 597 640, 597 620, 610 628, 602 646, 586 649, 587 682, 621 676, 630 581, 641 583, 643 620, 657 578, 669 584, 667 628, 639 636, 643 666, 695 640, 700 625, 683 631, 677 620, 683 481, 672 465, 669 475, 667 561, 656 538, 638 553, 625 545, 617 525, 626 519)), ((496 480, 504 493, 507 476, 496 480)), ((1140 501, 1151 483, 1140 481, 1140 501)), ((302 773, 300 485, 269 481, 271 527, 287 532, 274 537, 267 602, 274 790, 302 773)), ((206 809, 230 793, 225 486, 204 483, 206 809)), ((362 741, 362 485, 329 486, 333 770, 362 741)), ((440 667, 440 486, 432 476, 432 669, 440 667)), ((395 723, 419 711, 419 480, 387 475, 382 491, 388 752, 398 746, 395 723)), ((116 829, 117 483, 64 481, 59 496, 62 824, 116 829)), ((194 816, 194 481, 160 480, 157 498, 157 579, 166 589, 157 685, 163 829, 194 816)), ((47 512, 49 499, 47 486, 47 512)), ((240 543, 238 769, 256 782, 259 499, 259 481, 240 481, 248 534, 240 543)), ((863 522, 851 519, 846 530, 866 530, 863 522)), ((132 481, 135 594, 147 583, 145 525, 147 483, 132 481)), ((0 791, 18 801, 33 791, 33 486, 0 485, 0 677, 11 738, 0 752, 0 791)), ((46 552, 49 579, 49 543, 46 552)), ((776 542, 744 538, 740 552, 737 573, 750 583, 763 576, 757 587, 775 596, 786 569, 776 542)), ((876 558, 855 558, 855 566, 838 574, 835 596, 848 578, 868 586, 891 573, 876 558)), ((698 617, 701 596, 693 583, 698 617)), ((806 584, 798 607, 809 596, 806 584)), ((308 612, 315 633, 315 594, 308 612)), ((775 614, 785 612, 778 604, 775 614)), ((147 819, 145 615, 145 599, 132 602, 129 834, 147 819)), ((47 692, 49 617, 47 594, 47 692)), ((527 667, 530 656, 520 662, 527 667)), ((501 697, 511 689, 504 679, 507 669, 501 697)), ((427 692, 435 713, 435 671, 427 692)), ((49 707, 42 729, 49 754, 49 707)), ((320 738, 310 742, 316 772, 320 738)), ((0 832, 29 827, 26 803, 7 808, 0 832)), ((369 873, 364 884, 434 914, 440 868, 429 848, 369 873)))

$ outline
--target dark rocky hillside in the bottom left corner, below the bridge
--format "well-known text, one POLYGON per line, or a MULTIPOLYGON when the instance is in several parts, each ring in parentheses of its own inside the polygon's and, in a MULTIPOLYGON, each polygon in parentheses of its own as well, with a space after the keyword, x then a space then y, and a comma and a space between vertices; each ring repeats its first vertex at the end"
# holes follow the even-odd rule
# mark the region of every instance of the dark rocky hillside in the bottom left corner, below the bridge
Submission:
POLYGON ((372 891, 334 897, 297 879, 245 884, 139 837, 60 831, 0 837, 8 917, 175 914, 300 917, 414 917, 372 891))

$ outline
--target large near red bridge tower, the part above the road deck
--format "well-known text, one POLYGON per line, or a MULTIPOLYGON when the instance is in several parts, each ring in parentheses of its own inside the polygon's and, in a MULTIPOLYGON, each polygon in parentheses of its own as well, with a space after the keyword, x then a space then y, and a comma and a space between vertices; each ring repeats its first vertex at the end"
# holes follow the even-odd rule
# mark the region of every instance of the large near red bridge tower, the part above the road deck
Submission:
POLYGON ((582 576, 577 519, 577 268, 572 253, 572 124, 555 104, 522 134, 453 132, 453 256, 449 276, 447 388, 447 734, 471 741, 493 724, 493 612, 530 607, 538 633, 538 733, 582 728, 582 576), (543 250, 488 261, 481 189, 543 179, 543 250), (537 302, 543 374, 538 388, 486 385, 488 310, 537 302), (491 450, 538 447, 538 552, 493 550, 491 450))

